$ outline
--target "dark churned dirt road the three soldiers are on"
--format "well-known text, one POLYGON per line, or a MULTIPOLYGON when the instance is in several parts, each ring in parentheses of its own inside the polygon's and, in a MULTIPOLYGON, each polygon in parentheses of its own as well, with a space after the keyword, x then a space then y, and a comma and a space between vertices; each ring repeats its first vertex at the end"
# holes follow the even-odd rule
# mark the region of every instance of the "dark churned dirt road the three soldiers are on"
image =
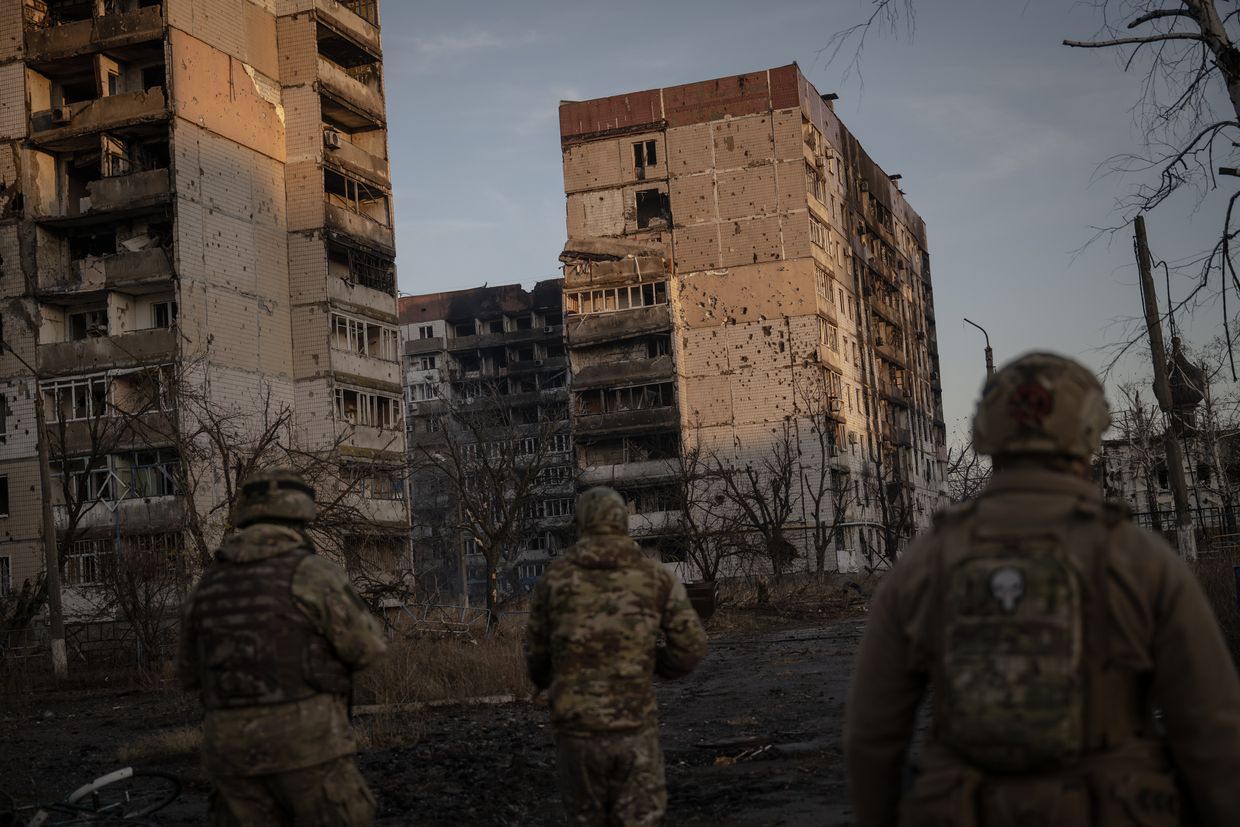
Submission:
MULTIPOLYGON (((861 622, 740 632, 712 640, 698 672, 658 698, 670 825, 851 823, 839 750, 843 702, 861 622)), ((119 763, 144 733, 197 719, 185 696, 92 693, 5 704, 0 777, 19 800, 63 792, 119 763)), ((379 744, 361 755, 381 825, 559 823, 547 709, 515 703, 363 718, 379 744)), ((160 823, 201 823, 196 759, 146 761, 181 774, 186 794, 160 823)))

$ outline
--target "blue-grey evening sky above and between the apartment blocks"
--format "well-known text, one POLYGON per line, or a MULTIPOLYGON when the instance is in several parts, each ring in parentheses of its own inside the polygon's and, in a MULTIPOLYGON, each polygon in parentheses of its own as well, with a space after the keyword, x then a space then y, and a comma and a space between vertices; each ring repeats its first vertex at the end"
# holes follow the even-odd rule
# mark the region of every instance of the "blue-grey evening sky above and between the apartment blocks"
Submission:
MULTIPOLYGON (((382 15, 403 293, 558 275, 560 99, 796 61, 841 94, 836 112, 926 221, 949 427, 966 423, 983 378, 963 316, 988 329, 999 363, 1049 348, 1099 368, 1141 312, 1131 233, 1074 254, 1128 186, 1099 165, 1140 149, 1140 76, 1060 45, 1097 30, 1084 4, 923 2, 911 40, 872 36, 859 78, 822 50, 866 15, 861 0, 387 0, 382 15)), ((1154 212, 1154 255, 1205 247, 1224 197, 1154 212)), ((1187 338, 1207 343, 1220 319, 1211 306, 1183 320, 1187 338)), ((1116 377, 1140 371, 1127 360, 1116 377)))

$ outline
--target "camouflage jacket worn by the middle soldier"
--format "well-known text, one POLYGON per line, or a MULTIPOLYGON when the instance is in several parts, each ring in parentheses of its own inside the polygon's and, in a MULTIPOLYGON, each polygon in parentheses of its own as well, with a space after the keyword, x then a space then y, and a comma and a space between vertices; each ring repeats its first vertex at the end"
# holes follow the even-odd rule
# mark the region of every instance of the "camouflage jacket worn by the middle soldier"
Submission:
POLYGON ((558 732, 653 725, 655 673, 687 674, 704 655, 684 585, 626 536, 584 534, 534 586, 526 660, 534 684, 551 688, 558 732))

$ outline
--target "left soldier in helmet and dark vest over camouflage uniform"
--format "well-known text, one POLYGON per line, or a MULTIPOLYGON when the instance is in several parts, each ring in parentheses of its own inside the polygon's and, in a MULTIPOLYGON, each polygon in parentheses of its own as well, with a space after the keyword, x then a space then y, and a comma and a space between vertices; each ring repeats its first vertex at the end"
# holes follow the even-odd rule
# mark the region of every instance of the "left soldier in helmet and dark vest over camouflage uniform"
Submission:
POLYGON ((184 609, 181 679, 206 707, 215 827, 370 825, 353 765, 352 673, 386 650, 345 573, 305 526, 314 490, 294 471, 242 487, 231 534, 184 609))

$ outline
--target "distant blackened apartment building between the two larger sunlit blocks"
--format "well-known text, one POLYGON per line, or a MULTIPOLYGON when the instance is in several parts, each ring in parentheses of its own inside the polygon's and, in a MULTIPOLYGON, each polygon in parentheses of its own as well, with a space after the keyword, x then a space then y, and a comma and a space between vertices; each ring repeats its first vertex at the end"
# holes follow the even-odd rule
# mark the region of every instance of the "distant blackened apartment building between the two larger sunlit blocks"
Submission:
POLYGON ((572 539, 562 283, 402 296, 407 443, 419 590, 486 594, 482 544, 503 548, 498 589, 532 588, 572 539), (528 482, 523 481, 528 477, 528 482), (463 493, 461 487, 466 489, 463 493), (511 515, 496 515, 489 501, 511 515), (492 513, 472 516, 477 506, 492 513), (503 523, 512 522, 511 527, 503 523))

